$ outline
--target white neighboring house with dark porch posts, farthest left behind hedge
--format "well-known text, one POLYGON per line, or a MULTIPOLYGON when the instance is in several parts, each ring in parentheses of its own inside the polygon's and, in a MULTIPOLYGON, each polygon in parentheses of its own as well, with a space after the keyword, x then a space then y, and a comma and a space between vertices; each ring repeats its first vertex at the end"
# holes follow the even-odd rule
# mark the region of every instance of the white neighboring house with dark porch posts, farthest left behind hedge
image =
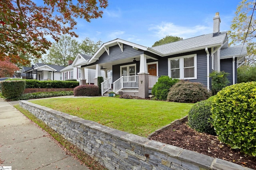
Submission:
POLYGON ((61 80, 62 74, 60 70, 62 70, 63 68, 65 68, 65 66, 36 63, 30 68, 23 67, 22 75, 26 74, 26 76, 22 77, 26 77, 26 79, 36 80, 61 80))

